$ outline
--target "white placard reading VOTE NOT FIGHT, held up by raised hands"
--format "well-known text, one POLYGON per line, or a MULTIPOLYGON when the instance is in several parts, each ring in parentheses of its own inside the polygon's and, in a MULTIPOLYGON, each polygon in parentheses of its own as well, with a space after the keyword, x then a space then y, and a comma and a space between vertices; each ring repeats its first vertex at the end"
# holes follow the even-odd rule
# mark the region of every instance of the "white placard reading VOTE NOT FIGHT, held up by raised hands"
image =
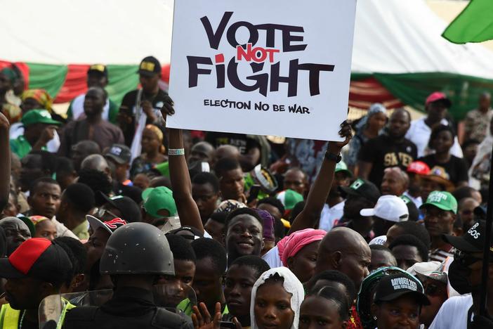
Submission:
POLYGON ((338 140, 356 0, 178 0, 167 127, 338 140))

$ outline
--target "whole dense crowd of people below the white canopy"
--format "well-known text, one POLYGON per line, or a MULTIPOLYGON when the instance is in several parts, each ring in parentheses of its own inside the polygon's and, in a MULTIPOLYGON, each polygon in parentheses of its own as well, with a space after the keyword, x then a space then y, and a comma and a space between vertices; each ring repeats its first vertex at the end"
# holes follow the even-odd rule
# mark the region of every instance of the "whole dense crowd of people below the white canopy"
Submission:
POLYGON ((118 106, 91 65, 60 115, 0 71, 0 329, 493 328, 489 93, 461 144, 442 92, 326 142, 168 129, 137 74, 118 106))

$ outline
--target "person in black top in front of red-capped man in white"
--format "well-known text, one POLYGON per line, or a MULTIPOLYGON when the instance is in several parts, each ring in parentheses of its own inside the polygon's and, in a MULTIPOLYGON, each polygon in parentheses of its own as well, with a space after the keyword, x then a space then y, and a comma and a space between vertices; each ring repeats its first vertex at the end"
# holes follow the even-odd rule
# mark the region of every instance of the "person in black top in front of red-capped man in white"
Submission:
POLYGON ((441 124, 433 128, 430 134, 428 148, 435 153, 421 157, 418 160, 428 164, 428 167, 442 167, 447 179, 454 186, 467 185, 468 174, 466 161, 450 153, 450 148, 454 144, 454 131, 451 127, 441 124))

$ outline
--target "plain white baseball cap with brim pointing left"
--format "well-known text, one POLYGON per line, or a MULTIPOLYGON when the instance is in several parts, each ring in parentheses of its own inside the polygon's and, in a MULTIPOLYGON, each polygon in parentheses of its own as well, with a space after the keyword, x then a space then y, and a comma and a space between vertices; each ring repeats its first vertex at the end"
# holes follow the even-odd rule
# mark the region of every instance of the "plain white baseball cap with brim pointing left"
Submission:
POLYGON ((374 208, 361 209, 361 216, 376 216, 387 221, 407 221, 409 210, 406 202, 395 195, 382 195, 374 208))

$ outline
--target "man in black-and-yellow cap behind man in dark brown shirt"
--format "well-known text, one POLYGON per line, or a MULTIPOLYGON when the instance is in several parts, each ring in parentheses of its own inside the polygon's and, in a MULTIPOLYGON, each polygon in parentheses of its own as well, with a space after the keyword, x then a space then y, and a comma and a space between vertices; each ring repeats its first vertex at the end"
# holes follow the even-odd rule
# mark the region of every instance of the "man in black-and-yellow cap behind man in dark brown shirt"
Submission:
MULTIPOLYGON (((108 70, 105 65, 94 64, 87 70, 87 88, 99 87, 105 89, 108 84, 108 70)), ((84 101, 86 94, 74 98, 67 110, 67 117, 69 120, 79 120, 84 118, 84 101)), ((115 104, 109 97, 106 97, 105 104, 103 105, 103 112, 101 117, 103 120, 109 121, 112 124, 117 124, 118 105, 115 104)))

